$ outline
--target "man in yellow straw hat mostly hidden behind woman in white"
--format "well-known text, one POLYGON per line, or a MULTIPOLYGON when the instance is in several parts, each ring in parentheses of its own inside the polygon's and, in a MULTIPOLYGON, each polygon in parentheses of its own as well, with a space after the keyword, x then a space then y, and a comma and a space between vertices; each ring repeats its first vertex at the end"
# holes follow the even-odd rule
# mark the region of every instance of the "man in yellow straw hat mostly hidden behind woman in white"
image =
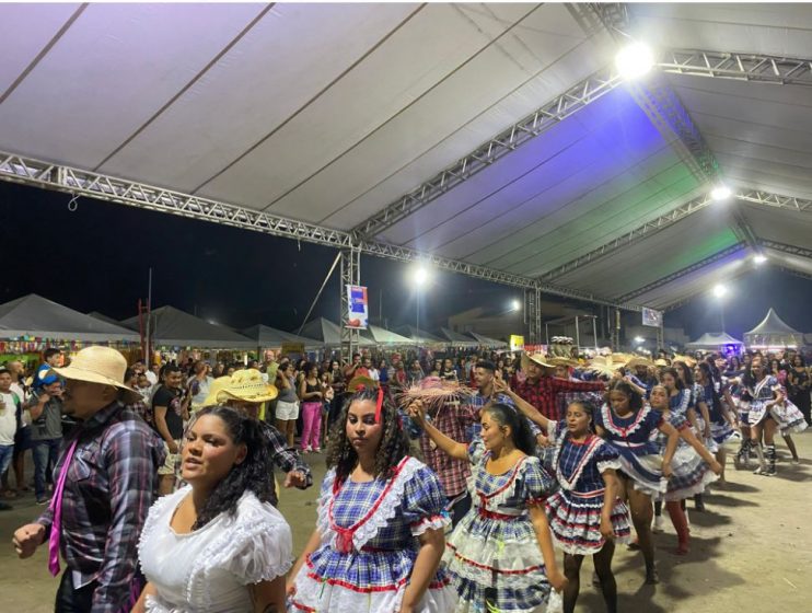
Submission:
MULTIPOLYGON (((272 401, 278 394, 279 391, 275 385, 263 381, 258 370, 237 370, 231 377, 220 377, 213 381, 204 406, 223 404, 257 420, 268 446, 270 461, 287 473, 285 487, 306 489, 313 485, 313 473, 310 466, 295 449, 288 447, 286 437, 277 428, 258 418, 262 404, 272 401)), ((279 496, 276 491, 272 472, 268 478, 271 482, 270 502, 276 507, 279 496)))

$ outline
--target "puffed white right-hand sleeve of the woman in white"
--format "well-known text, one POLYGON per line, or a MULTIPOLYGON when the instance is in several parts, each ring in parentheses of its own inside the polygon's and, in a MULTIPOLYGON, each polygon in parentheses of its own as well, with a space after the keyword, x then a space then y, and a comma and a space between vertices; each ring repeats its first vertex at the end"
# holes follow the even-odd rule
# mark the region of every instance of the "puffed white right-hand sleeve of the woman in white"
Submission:
POLYGON ((246 497, 231 530, 229 545, 217 555, 228 560, 225 568, 240 583, 269 581, 290 570, 293 562, 290 527, 269 504, 246 497))

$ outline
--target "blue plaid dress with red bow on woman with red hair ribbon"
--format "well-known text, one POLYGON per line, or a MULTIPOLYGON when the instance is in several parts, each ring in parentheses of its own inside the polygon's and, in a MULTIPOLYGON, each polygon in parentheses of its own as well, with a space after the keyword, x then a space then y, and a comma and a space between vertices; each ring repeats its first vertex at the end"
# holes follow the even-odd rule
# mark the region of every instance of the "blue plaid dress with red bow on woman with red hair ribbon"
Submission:
MULTIPOLYGON (((442 530, 445 496, 422 462, 405 458, 392 478, 322 483, 317 528, 321 546, 295 578, 291 612, 395 613, 419 551, 418 536, 442 530)), ((456 597, 442 570, 415 609, 446 613, 456 597)))

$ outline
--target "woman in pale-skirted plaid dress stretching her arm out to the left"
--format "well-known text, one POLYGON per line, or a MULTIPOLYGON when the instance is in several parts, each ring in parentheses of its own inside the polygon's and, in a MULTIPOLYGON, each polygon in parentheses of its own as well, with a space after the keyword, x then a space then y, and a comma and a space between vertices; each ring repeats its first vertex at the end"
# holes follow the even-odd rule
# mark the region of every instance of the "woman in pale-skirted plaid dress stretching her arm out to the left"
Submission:
MULTIPOLYGON (((544 500, 552 478, 533 455, 527 420, 506 404, 488 404, 482 432, 466 446, 425 420, 422 403, 409 415, 445 453, 472 465, 474 506, 446 543, 443 563, 460 597, 455 613, 542 613, 550 585, 560 590, 544 500)), ((451 613, 452 610, 449 610, 451 613)))

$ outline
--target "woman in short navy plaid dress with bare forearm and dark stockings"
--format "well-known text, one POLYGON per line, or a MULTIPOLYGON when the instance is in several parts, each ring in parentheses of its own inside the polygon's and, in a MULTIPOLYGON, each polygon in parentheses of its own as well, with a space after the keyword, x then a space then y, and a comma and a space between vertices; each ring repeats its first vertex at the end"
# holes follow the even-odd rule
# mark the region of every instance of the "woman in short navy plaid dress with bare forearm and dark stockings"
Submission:
POLYGON ((548 421, 547 431, 555 443, 554 465, 560 489, 547 499, 546 510, 553 540, 565 552, 564 611, 572 613, 580 588, 583 557, 594 556, 606 611, 617 611, 617 583, 612 574, 615 541, 629 537, 629 510, 617 498, 615 471, 619 456, 606 441, 591 430, 594 408, 575 401, 567 407, 566 419, 548 421))

